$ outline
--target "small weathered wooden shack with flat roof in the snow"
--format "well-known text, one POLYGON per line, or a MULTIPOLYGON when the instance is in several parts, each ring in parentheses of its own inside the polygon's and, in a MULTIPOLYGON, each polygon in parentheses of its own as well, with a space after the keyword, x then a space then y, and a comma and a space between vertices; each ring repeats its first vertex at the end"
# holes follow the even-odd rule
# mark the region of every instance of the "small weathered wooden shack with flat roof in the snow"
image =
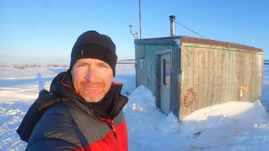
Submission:
POLYGON ((181 121, 204 107, 261 97, 264 51, 188 36, 135 39, 136 87, 181 121))

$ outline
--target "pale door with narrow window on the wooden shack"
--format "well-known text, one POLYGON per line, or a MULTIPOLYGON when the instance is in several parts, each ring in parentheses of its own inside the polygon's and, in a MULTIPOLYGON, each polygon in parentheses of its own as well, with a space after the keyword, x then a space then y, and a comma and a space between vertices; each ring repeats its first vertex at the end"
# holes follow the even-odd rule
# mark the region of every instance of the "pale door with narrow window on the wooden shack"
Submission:
POLYGON ((160 110, 165 114, 170 112, 170 77, 171 59, 170 54, 160 55, 160 110))

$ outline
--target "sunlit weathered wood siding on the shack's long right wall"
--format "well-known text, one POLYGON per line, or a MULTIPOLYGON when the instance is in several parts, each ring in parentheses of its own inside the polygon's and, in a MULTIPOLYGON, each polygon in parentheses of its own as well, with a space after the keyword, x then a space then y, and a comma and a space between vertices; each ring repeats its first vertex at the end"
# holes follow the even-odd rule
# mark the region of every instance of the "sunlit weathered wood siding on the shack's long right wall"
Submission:
POLYGON ((228 101, 261 97, 263 53, 182 43, 180 117, 228 101))

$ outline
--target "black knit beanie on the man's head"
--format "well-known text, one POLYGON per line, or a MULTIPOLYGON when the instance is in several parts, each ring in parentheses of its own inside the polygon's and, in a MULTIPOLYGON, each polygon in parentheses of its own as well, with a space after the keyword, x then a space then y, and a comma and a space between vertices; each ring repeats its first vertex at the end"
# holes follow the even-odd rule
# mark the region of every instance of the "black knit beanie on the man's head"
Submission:
POLYGON ((105 61, 113 70, 117 63, 116 46, 107 35, 99 34, 96 31, 86 31, 81 34, 74 44, 71 52, 70 69, 77 60, 82 58, 93 58, 105 61))

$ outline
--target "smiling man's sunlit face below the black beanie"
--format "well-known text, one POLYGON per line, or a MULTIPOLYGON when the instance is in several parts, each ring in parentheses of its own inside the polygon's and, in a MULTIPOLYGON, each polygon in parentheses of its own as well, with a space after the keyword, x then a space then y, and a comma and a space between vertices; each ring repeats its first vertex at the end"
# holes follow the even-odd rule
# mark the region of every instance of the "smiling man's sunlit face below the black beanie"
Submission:
POLYGON ((75 90, 87 102, 99 102, 111 87, 113 70, 104 61, 85 58, 76 61, 71 75, 75 90))

